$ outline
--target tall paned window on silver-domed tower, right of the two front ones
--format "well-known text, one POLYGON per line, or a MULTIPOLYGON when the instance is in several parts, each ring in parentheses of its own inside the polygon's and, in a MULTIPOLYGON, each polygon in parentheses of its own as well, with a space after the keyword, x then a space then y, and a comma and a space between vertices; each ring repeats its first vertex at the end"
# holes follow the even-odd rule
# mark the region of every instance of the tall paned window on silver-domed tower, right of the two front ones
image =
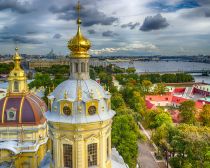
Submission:
POLYGON ((88 167, 97 166, 97 143, 88 145, 88 167))

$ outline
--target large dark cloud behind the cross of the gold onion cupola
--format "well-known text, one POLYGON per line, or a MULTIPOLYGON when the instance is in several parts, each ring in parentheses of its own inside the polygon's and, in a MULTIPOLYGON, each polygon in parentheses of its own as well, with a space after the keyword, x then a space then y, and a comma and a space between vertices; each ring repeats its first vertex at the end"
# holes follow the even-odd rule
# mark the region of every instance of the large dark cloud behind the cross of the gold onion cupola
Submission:
MULTIPOLYGON (((77 18, 74 5, 71 4, 61 8, 51 6, 49 10, 56 14, 57 18, 60 20, 75 20, 77 18)), ((83 19, 83 26, 86 27, 93 25, 112 25, 114 22, 118 21, 118 18, 107 16, 93 6, 83 7, 80 15, 83 19)))

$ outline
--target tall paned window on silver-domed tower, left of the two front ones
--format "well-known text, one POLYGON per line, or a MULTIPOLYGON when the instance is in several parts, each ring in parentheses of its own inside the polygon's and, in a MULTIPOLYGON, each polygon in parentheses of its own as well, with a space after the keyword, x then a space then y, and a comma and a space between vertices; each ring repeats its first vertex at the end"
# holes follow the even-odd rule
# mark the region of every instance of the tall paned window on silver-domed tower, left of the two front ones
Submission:
POLYGON ((63 144, 63 162, 65 168, 73 168, 72 145, 63 144))

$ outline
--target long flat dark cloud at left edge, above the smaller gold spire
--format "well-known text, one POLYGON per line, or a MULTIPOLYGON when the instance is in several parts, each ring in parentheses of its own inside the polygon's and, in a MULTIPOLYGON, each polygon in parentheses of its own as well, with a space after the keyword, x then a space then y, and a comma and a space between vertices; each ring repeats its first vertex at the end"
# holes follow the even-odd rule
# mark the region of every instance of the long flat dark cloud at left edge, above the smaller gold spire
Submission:
POLYGON ((0 36, 0 42, 17 42, 22 44, 42 44, 41 41, 19 35, 0 36))

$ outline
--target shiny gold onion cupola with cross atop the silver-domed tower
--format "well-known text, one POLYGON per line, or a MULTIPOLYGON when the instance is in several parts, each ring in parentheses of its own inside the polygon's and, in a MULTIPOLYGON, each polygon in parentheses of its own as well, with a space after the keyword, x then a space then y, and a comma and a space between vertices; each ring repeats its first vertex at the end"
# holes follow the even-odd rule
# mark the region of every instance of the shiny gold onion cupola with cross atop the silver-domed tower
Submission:
POLYGON ((81 5, 78 2, 77 4, 77 12, 78 12, 78 19, 77 19, 77 34, 68 42, 68 48, 71 50, 70 57, 72 58, 89 58, 90 55, 88 54, 88 50, 91 47, 91 42, 87 38, 85 38, 81 32, 81 24, 82 20, 80 19, 80 10, 81 5))

